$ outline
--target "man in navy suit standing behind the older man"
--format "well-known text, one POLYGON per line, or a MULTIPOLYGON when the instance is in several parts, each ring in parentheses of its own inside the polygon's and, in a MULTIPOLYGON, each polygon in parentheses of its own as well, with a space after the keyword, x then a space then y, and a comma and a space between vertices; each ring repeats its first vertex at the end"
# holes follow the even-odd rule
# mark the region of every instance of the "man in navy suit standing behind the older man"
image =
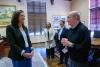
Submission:
POLYGON ((62 45, 61 40, 62 38, 66 38, 68 29, 65 27, 65 21, 61 20, 60 21, 60 29, 58 30, 58 32, 55 35, 55 41, 56 41, 56 46, 58 48, 58 51, 60 53, 60 61, 58 63, 58 65, 63 64, 64 63, 64 53, 63 53, 63 49, 65 48, 65 46, 62 45))

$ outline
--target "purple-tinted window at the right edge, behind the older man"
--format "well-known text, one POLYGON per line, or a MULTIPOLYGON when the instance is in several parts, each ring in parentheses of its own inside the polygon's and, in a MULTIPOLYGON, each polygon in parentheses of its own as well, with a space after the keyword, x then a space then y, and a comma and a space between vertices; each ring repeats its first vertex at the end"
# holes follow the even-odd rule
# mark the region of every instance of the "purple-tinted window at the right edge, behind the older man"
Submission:
POLYGON ((90 0, 90 29, 100 30, 100 0, 90 0))

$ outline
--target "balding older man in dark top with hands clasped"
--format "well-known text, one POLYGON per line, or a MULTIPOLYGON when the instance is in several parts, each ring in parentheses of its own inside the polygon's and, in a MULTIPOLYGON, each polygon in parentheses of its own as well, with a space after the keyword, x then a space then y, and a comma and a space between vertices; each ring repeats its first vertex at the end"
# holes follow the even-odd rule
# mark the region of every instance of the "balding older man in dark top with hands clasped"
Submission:
POLYGON ((69 50, 69 67, 88 67, 88 52, 91 43, 89 30, 81 23, 77 11, 70 12, 67 21, 71 26, 68 39, 63 38, 61 42, 69 50))

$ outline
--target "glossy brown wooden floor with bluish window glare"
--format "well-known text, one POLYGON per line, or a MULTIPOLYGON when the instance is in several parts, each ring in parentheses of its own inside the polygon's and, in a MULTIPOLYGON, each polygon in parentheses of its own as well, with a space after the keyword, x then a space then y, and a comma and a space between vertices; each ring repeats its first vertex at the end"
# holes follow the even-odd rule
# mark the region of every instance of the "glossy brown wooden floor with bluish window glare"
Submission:
MULTIPOLYGON (((45 51, 45 44, 44 43, 38 43, 38 44, 32 44, 32 46, 35 48, 35 52, 39 52, 43 59, 47 62, 49 67, 64 67, 63 65, 57 65, 58 58, 55 57, 53 60, 47 60, 46 59, 46 51, 45 51)), ((6 55, 8 56, 9 49, 6 49, 6 55)))

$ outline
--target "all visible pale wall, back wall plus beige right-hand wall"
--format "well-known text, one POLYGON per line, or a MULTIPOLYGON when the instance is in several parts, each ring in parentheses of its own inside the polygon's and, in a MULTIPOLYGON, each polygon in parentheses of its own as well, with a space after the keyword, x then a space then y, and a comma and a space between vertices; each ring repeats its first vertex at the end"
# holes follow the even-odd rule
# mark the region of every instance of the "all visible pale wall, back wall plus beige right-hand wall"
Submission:
MULTIPOLYGON (((28 18, 27 18, 27 3, 26 0, 22 0, 23 2, 18 3, 17 0, 0 0, 0 5, 16 5, 16 9, 22 9, 25 11, 26 20, 25 25, 28 26, 28 18)), ((54 5, 51 5, 50 0, 47 0, 46 4, 47 10, 47 22, 52 23, 52 16, 56 15, 64 15, 66 16, 70 10, 77 10, 81 12, 82 21, 85 21, 85 25, 88 26, 88 0, 72 0, 71 4, 69 1, 65 0, 54 0, 54 5), (70 9, 71 6, 71 9, 70 9)), ((53 23, 52 23, 53 24, 53 23)), ((0 28, 0 34, 6 36, 5 28, 0 28)), ((30 39, 32 43, 43 42, 45 41, 44 36, 33 36, 30 35, 30 39)))

